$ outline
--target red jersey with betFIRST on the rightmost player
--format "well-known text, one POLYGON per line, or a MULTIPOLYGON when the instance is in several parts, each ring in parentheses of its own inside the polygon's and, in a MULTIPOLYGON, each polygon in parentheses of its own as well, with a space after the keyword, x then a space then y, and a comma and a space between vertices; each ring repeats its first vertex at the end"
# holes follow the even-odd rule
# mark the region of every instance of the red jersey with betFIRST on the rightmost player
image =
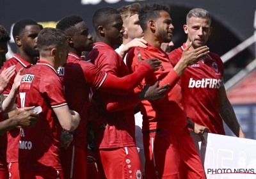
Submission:
MULTIPOLYGON (((174 66, 185 48, 184 43, 182 47, 168 54, 174 66)), ((225 135, 220 116, 219 93, 219 88, 223 85, 223 75, 223 62, 218 55, 210 52, 204 61, 198 61, 186 68, 179 84, 188 117, 195 123, 208 127, 211 133, 225 135)))

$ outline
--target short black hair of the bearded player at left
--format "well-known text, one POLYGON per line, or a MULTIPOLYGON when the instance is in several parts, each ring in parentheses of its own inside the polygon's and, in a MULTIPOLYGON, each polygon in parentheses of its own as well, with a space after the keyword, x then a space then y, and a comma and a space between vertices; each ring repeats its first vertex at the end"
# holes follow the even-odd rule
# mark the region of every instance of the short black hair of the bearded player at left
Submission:
POLYGON ((20 19, 16 22, 12 29, 12 36, 15 39, 15 36, 20 36, 20 33, 25 29, 26 26, 38 25, 37 22, 33 19, 20 19))

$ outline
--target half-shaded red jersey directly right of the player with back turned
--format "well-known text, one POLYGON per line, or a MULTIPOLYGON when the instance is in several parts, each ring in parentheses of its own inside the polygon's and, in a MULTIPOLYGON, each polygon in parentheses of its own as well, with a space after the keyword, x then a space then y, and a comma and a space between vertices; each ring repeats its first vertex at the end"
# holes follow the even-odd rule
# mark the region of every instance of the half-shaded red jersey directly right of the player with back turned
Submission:
POLYGON ((80 60, 79 56, 73 53, 68 54, 67 65, 58 68, 58 73, 65 89, 64 93, 68 107, 77 111, 81 118, 74 132, 74 138, 71 144, 86 150, 88 128, 86 113, 90 86, 95 89, 100 88, 107 74, 101 72, 92 63, 80 60))

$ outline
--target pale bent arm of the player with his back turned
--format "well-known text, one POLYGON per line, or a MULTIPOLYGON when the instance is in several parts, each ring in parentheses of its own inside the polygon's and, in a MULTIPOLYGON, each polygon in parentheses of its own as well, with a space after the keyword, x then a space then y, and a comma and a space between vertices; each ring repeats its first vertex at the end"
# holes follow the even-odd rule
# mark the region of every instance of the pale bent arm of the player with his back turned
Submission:
POLYGON ((71 132, 75 130, 80 122, 80 116, 76 111, 68 109, 68 105, 62 105, 60 107, 53 108, 54 113, 56 114, 60 125, 64 130, 71 132))

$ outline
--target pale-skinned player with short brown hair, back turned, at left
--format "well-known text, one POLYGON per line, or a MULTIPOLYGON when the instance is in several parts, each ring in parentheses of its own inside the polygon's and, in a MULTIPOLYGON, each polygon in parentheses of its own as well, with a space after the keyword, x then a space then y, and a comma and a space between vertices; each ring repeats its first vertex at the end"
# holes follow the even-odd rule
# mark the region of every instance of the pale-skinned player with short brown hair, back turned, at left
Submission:
POLYGON ((37 39, 40 61, 20 83, 20 105, 42 107, 35 127, 20 129, 20 178, 63 178, 61 130, 71 132, 80 121, 79 114, 68 108, 57 72, 67 62, 67 40, 60 29, 42 29, 37 39))

